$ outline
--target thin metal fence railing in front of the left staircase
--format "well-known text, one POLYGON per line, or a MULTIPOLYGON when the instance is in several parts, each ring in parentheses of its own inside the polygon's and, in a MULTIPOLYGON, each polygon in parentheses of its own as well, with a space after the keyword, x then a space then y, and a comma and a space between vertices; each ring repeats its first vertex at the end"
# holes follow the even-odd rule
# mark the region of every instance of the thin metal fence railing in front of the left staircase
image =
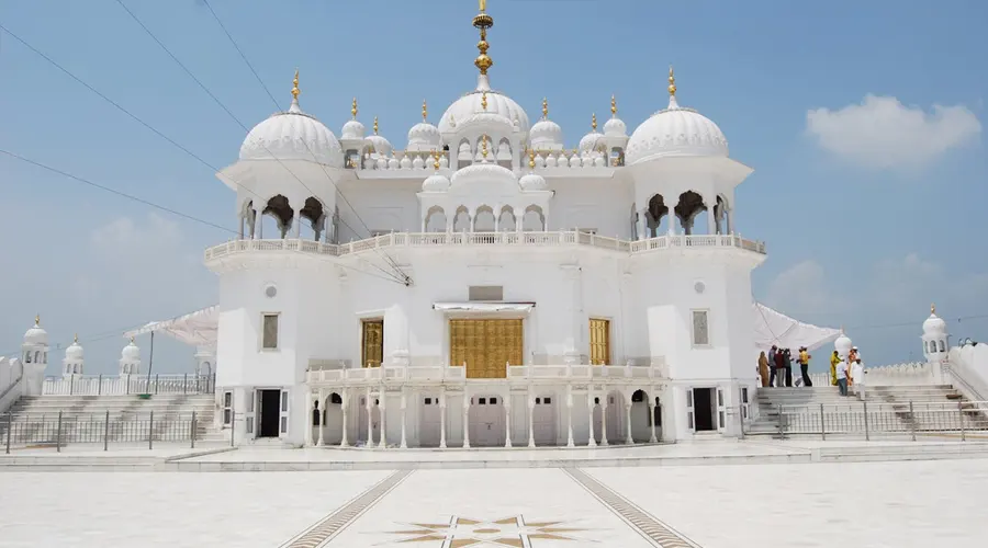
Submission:
POLYGON ((198 442, 222 441, 207 435, 211 423, 211 416, 195 411, 166 418, 155 418, 154 411, 114 415, 110 411, 86 415, 64 411, 36 415, 3 413, 0 414, 0 444, 7 454, 11 447, 54 447, 60 452, 69 444, 102 444, 103 450, 113 444, 147 444, 151 449, 156 442, 186 442, 195 447, 198 442))

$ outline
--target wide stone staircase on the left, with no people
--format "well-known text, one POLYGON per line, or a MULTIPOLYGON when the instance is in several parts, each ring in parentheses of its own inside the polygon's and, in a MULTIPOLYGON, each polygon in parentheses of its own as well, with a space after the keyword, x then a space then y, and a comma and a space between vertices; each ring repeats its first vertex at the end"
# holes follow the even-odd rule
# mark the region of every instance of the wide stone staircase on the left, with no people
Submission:
POLYGON ((0 445, 72 443, 222 442, 213 425, 212 395, 24 396, 0 415, 0 445), (61 412, 60 427, 58 413, 61 412), (108 419, 109 416, 109 419, 108 419), (8 422, 9 421, 9 422, 8 422))

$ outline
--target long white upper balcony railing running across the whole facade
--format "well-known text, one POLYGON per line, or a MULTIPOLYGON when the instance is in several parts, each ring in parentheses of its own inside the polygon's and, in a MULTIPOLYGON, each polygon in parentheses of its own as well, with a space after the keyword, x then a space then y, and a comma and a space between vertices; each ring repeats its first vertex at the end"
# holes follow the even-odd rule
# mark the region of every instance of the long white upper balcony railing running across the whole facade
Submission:
POLYGON ((311 240, 233 240, 205 250, 205 260, 244 252, 302 252, 345 256, 374 249, 449 247, 572 247, 582 246, 622 253, 651 253, 659 250, 741 249, 765 254, 765 243, 737 235, 659 236, 647 240, 621 240, 580 230, 553 232, 391 232, 349 243, 323 243, 311 240))

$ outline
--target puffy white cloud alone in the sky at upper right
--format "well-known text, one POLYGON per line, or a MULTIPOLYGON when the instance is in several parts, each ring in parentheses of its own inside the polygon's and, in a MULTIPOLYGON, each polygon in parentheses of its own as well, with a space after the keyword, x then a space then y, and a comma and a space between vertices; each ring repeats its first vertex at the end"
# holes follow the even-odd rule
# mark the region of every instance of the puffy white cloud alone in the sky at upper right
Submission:
POLYGON ((925 112, 896 98, 872 94, 837 111, 811 110, 806 123, 823 149, 878 169, 928 165, 981 133, 978 117, 963 105, 933 105, 925 112))

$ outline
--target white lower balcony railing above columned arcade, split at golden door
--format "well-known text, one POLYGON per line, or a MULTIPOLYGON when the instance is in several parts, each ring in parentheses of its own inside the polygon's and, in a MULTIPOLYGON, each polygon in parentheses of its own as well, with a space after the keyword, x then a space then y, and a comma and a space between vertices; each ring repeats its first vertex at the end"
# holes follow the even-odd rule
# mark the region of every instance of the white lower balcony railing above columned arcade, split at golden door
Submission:
MULTIPOLYGON (((637 365, 505 365, 507 380, 606 380, 664 379, 669 373, 664 363, 637 365)), ((463 383, 467 368, 461 365, 429 365, 408 367, 355 367, 311 369, 310 385, 362 385, 380 383, 463 383)), ((487 380, 487 379, 470 379, 487 380)))

